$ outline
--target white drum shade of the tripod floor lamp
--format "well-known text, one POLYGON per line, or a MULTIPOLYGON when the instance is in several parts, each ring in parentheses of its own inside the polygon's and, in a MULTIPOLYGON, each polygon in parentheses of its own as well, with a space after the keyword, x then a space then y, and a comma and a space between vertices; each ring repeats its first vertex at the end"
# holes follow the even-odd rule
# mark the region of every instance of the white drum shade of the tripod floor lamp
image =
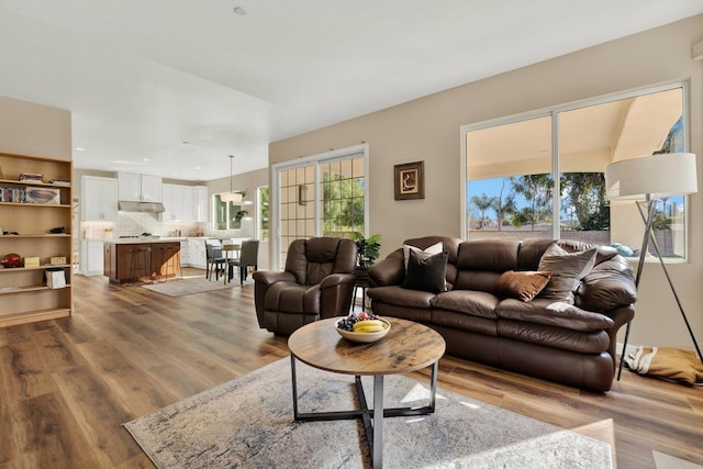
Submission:
POLYGON ((663 153, 613 163, 605 167, 607 199, 663 199, 699 191, 695 155, 663 153))

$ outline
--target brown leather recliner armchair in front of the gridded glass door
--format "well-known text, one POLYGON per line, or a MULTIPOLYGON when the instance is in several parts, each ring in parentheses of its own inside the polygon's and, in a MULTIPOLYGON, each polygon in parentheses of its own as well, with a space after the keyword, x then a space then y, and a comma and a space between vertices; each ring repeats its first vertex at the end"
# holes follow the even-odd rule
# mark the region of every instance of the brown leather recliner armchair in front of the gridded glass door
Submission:
POLYGON ((317 320, 347 315, 352 305, 356 243, 337 237, 295 239, 286 270, 254 272, 259 326, 289 335, 317 320))

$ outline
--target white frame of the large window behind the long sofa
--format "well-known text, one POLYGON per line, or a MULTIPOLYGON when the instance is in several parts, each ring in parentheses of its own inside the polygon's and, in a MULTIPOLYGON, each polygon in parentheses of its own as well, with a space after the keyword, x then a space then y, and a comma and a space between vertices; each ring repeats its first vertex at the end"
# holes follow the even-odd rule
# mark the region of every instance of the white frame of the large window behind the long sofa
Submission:
MULTIPOLYGON (((691 142, 691 115, 690 115, 690 81, 671 81, 658 86, 643 87, 637 89, 632 89, 627 91, 621 91, 610 94, 604 94, 595 98, 583 99, 579 101, 573 101, 570 103, 543 108, 539 110, 528 111, 524 113, 513 114, 503 118, 491 119, 488 121, 478 122, 475 124, 466 124, 459 127, 459 178, 460 178, 460 203, 459 203, 459 217, 460 217, 460 228, 461 228, 461 238, 466 239, 469 237, 468 225, 467 225, 467 135, 470 132, 480 131, 484 129, 496 127, 500 125, 513 124, 516 122, 522 122, 531 119, 538 119, 549 116, 551 119, 551 175, 554 179, 554 193, 560 193, 560 183, 559 183, 559 114, 562 112, 569 112, 573 110, 579 110, 582 108, 588 108, 598 104, 604 104, 607 102, 613 102, 617 100, 637 98, 645 94, 651 94, 662 91, 669 91, 673 89, 681 89, 681 115, 683 118, 683 152, 690 152, 690 142, 691 142)), ((603 168, 604 170, 605 168, 603 168)), ((690 261, 691 250, 691 203, 690 196, 683 196, 685 199, 685 210, 684 210, 684 256, 681 258, 666 258, 665 261, 670 264, 684 264, 690 261)), ((558 197, 553 198, 553 220, 551 220, 551 237, 553 239, 559 239, 561 236, 560 230, 560 213, 561 213, 561 200, 558 197)), ((643 226, 644 232, 644 226, 643 226)))

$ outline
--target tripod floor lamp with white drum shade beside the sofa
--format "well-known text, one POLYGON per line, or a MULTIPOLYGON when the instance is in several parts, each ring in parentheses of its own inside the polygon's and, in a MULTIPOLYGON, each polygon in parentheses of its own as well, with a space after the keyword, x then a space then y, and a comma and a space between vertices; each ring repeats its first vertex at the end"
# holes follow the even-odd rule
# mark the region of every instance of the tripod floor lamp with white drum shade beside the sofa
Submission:
MULTIPOLYGON (((651 243, 665 276, 667 277, 669 287, 671 287, 671 292, 681 312, 681 317, 683 317, 683 322, 689 330, 699 359, 703 362, 701 348, 683 311, 683 305, 681 304, 677 289, 673 287, 652 231, 656 209, 659 202, 668 197, 698 192, 695 155, 692 153, 665 153, 613 163, 605 167, 605 188, 607 199, 610 200, 634 199, 637 203, 639 214, 645 222, 645 235, 639 252, 639 265, 637 266, 635 287, 639 289, 639 280, 641 279, 641 271, 645 267, 645 257, 651 243)), ((625 342, 623 343, 623 351, 620 357, 617 380, 620 380, 623 371, 631 324, 632 322, 628 322, 625 327, 625 342)))

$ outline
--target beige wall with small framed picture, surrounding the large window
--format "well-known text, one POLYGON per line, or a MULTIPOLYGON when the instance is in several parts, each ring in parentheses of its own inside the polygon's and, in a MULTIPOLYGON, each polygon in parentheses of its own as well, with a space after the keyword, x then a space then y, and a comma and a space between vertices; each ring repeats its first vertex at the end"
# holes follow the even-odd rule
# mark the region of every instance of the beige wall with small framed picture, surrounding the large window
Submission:
MULTIPOLYGON (((703 15, 276 142, 269 146, 269 163, 368 142, 370 232, 381 234, 382 254, 410 237, 461 237, 459 129, 465 124, 689 80, 690 150, 701 165, 703 63, 691 57, 691 46, 700 41, 703 15), (415 160, 425 161, 426 198, 395 201, 393 165, 415 160)), ((691 263, 671 266, 670 273, 696 335, 703 338, 702 200, 701 193, 691 198, 691 263)), ((660 267, 646 267, 631 342, 692 348, 660 267)))

